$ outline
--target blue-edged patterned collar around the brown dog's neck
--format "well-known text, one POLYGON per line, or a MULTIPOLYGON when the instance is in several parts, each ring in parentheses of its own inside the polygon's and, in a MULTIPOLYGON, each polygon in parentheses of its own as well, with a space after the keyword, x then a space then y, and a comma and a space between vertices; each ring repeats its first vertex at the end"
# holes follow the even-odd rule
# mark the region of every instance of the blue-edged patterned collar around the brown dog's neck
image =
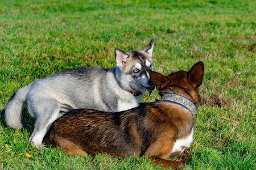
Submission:
MULTIPOLYGON (((156 101, 158 100, 156 99, 156 101)), ((167 93, 162 96, 160 101, 168 101, 171 103, 179 104, 184 108, 188 109, 192 113, 192 116, 195 116, 196 114, 196 105, 193 104, 191 100, 187 99, 184 96, 174 94, 174 93, 167 93)))

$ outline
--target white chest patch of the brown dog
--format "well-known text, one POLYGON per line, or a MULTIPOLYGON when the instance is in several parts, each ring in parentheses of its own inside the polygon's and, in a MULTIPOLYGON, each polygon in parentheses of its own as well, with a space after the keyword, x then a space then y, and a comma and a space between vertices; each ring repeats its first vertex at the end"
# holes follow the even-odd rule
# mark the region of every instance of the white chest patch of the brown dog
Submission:
POLYGON ((193 129, 191 130, 191 134, 189 134, 186 138, 176 140, 170 154, 183 152, 185 148, 189 147, 192 142, 193 142, 193 129))

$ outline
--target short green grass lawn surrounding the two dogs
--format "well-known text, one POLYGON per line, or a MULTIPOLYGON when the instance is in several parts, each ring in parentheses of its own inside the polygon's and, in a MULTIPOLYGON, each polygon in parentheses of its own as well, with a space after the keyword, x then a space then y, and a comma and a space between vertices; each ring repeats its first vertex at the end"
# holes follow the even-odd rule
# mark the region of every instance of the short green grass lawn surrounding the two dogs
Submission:
MULTIPOLYGON (((154 69, 167 75, 205 64, 193 169, 256 169, 255 1, 0 2, 0 169, 159 169, 139 157, 39 151, 26 128, 7 128, 7 101, 19 88, 61 70, 115 66, 114 49, 143 49, 155 39, 154 69), (26 155, 27 154, 27 155, 26 155)), ((159 99, 157 91, 142 102, 159 99)))

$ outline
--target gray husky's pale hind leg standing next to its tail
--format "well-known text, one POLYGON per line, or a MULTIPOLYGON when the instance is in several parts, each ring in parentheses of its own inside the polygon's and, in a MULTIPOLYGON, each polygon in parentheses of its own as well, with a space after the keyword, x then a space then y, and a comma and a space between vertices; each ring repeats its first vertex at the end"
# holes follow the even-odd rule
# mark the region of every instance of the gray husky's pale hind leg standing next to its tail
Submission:
POLYGON ((52 123, 61 116, 59 103, 54 99, 36 101, 38 105, 28 107, 30 111, 34 111, 36 118, 34 131, 29 139, 37 148, 46 148, 42 146, 44 135, 46 135, 52 123))

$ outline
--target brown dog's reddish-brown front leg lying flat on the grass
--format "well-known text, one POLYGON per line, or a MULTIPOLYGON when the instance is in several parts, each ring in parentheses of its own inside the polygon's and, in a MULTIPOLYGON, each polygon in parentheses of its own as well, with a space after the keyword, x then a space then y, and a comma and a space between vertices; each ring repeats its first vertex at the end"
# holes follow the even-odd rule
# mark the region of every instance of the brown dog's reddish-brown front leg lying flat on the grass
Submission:
POLYGON ((156 165, 162 166, 164 168, 172 167, 172 169, 184 168, 185 164, 179 161, 166 160, 158 158, 157 156, 151 156, 149 159, 156 165))

